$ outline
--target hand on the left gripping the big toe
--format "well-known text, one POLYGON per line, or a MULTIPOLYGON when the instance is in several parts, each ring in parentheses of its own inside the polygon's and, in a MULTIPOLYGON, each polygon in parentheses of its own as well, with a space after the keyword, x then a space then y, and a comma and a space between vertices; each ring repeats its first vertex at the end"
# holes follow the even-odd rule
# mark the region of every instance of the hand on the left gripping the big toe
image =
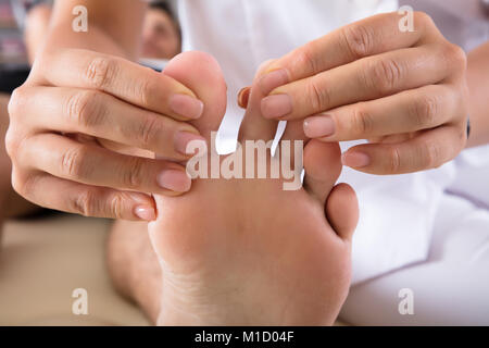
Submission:
POLYGON ((43 54, 9 104, 13 187, 41 207, 153 220, 154 201, 142 192, 190 188, 175 162, 188 159, 189 140, 202 139, 185 122, 202 109, 180 83, 124 59, 72 49, 43 54))

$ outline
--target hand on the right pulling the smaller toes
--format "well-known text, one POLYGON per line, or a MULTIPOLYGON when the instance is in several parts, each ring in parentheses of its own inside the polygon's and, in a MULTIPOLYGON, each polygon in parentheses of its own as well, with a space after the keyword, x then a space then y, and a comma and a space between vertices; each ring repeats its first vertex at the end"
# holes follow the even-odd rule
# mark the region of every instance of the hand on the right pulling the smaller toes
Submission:
POLYGON ((466 142, 465 54, 428 15, 414 14, 414 32, 401 32, 400 20, 373 16, 276 60, 261 80, 269 94, 263 115, 305 119, 309 138, 368 139, 342 158, 366 173, 410 173, 452 160, 466 142))

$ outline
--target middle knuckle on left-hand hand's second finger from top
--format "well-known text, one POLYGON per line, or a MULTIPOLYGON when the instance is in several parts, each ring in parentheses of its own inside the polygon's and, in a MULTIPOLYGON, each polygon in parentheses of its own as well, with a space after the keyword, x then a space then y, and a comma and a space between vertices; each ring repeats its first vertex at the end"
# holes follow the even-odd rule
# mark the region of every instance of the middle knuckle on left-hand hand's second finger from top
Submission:
POLYGON ((101 99, 101 94, 93 90, 75 92, 66 103, 68 119, 83 128, 100 125, 106 113, 101 99))

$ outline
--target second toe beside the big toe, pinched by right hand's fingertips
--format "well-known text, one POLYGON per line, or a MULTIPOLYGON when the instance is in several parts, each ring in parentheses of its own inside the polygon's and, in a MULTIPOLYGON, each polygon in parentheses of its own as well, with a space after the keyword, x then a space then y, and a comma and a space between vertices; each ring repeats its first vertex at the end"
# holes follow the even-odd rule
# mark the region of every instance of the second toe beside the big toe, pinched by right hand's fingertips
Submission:
MULTIPOLYGON (((256 76, 271 64, 268 60, 260 65, 256 76)), ((277 132, 278 122, 266 120, 261 113, 261 101, 265 97, 258 88, 259 79, 255 77, 248 97, 247 112, 239 129, 239 141, 242 140, 272 140, 277 132)), ((278 87, 279 85, 276 85, 278 87)))

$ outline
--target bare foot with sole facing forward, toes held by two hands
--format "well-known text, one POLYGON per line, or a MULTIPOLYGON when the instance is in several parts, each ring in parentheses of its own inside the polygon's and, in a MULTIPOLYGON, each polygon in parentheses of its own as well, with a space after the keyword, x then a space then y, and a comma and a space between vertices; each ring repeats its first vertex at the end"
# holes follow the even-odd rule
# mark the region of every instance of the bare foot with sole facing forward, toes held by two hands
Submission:
MULTIPOLYGON (((209 139, 226 103, 217 63, 183 53, 165 74, 205 102, 193 125, 209 139)), ((273 137, 276 124, 260 115, 262 98, 253 87, 241 141, 273 137)), ((337 144, 310 141, 304 167, 304 187, 296 191, 284 190, 283 179, 221 178, 196 179, 181 197, 155 197, 158 221, 149 231, 164 279, 159 324, 334 323, 350 284, 358 203, 349 186, 335 187, 337 144)))

